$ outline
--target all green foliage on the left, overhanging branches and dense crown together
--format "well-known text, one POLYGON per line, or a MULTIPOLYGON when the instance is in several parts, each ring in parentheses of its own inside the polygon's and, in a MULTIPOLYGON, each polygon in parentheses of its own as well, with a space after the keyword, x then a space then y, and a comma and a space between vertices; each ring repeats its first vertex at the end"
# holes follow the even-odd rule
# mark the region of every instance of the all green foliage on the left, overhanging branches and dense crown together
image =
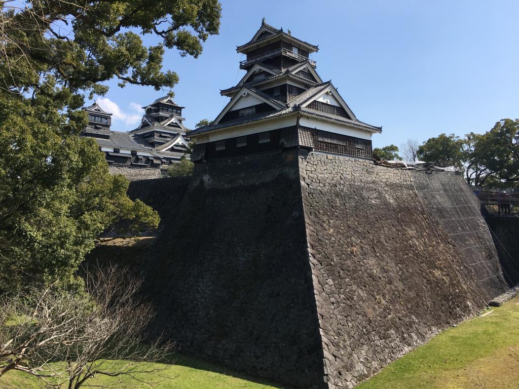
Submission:
POLYGON ((158 215, 108 173, 97 143, 79 137, 85 93, 120 86, 172 88, 165 48, 197 57, 218 32, 217 0, 2 3, 0 29, 0 290, 30 281, 71 283, 103 230, 135 232, 158 215), (23 6, 22 6, 23 7, 23 6), (138 34, 161 42, 145 47, 138 34))

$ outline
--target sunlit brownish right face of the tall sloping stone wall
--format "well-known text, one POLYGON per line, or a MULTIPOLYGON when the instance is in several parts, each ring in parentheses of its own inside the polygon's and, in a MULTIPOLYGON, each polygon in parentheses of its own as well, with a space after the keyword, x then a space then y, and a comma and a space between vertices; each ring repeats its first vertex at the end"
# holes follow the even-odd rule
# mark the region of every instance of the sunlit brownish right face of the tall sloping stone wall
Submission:
POLYGON ((300 158, 326 380, 353 387, 506 284, 461 176, 300 158))

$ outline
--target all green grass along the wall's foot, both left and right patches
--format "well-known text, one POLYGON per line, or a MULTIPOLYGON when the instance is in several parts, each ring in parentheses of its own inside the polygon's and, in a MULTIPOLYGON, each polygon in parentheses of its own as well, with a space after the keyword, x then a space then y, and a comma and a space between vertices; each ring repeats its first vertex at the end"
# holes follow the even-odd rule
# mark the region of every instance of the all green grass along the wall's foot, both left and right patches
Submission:
MULTIPOLYGON (((519 297, 489 311, 442 332, 356 389, 519 389, 519 297)), ((281 388, 181 355, 165 374, 171 379, 159 389, 281 388)), ((42 387, 18 372, 0 379, 0 389, 42 387)))

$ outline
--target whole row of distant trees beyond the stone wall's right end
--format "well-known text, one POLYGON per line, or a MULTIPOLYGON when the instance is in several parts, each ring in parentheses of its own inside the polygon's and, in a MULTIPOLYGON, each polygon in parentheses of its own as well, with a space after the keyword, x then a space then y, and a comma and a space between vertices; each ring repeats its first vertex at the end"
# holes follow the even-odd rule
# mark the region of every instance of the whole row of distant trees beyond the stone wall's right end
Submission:
POLYGON ((469 185, 516 187, 519 185, 519 119, 502 119, 484 134, 471 132, 459 137, 443 133, 421 145, 408 140, 400 149, 395 145, 374 148, 373 154, 384 160, 420 160, 440 167, 465 169, 469 185))

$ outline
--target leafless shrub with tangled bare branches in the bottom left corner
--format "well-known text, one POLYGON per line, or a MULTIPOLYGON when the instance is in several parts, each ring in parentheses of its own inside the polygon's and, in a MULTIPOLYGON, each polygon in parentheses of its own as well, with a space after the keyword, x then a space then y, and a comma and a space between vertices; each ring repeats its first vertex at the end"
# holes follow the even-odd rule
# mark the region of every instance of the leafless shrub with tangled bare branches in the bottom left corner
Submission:
POLYGON ((109 266, 86 272, 84 294, 53 285, 1 298, 0 380, 18 370, 71 389, 90 386, 96 376, 126 377, 124 387, 132 378, 135 387, 157 383, 163 367, 155 362, 173 344, 146 342, 153 311, 139 299, 141 285, 129 270, 109 266))

